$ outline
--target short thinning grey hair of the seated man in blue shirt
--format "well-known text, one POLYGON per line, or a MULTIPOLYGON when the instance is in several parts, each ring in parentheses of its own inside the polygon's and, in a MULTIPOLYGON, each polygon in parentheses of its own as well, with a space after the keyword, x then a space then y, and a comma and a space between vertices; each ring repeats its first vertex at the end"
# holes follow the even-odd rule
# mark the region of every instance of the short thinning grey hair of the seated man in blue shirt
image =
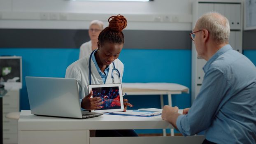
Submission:
POLYGON ((207 29, 218 44, 228 43, 230 26, 225 16, 217 12, 208 12, 198 19, 196 25, 198 30, 207 29))

